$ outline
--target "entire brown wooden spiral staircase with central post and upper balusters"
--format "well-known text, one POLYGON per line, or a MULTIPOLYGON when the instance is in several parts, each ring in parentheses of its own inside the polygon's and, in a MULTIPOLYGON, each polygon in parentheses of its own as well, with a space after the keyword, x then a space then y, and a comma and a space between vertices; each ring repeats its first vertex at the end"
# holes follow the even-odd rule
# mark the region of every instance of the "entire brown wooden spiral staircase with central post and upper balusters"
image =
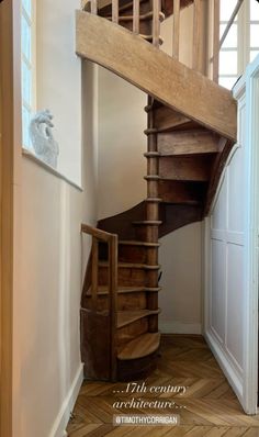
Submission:
MULTIPOLYGON (((194 0, 195 69, 178 60, 180 9, 189 3, 92 0, 77 11, 77 54, 148 94, 146 199, 97 228, 82 225, 92 236, 81 299, 81 352, 90 379, 136 379, 155 366, 159 237, 209 213, 236 141, 230 92, 196 71, 200 1, 194 0), (170 57, 158 49, 159 25, 172 12, 170 57)), ((218 20, 216 0, 214 14, 218 20)))

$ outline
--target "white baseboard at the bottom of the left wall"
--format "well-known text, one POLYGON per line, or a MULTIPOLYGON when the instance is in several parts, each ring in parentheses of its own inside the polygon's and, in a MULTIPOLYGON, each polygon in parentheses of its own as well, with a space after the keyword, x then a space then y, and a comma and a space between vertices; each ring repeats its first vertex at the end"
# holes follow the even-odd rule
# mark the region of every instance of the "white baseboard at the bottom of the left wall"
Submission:
POLYGON ((83 380, 83 365, 80 363, 71 386, 61 404, 59 413, 54 422, 49 437, 67 437, 66 427, 74 410, 83 380))

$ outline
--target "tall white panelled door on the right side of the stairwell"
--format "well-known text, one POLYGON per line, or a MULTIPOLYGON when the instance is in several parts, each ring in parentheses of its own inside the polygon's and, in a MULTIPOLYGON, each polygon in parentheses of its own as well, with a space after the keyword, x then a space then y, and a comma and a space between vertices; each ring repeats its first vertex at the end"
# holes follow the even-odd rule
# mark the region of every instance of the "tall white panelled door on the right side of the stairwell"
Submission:
POLYGON ((257 413, 259 57, 234 90, 238 142, 205 223, 204 333, 244 410, 257 413))

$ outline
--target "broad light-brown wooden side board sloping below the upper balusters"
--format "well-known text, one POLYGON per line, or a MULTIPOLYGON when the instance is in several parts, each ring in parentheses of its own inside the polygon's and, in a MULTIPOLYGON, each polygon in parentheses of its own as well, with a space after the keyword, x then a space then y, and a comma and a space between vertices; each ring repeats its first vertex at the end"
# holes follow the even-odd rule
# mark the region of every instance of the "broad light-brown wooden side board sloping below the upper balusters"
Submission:
POLYGON ((230 92, 138 35, 100 16, 77 11, 76 52, 189 119, 236 141, 237 107, 230 92))

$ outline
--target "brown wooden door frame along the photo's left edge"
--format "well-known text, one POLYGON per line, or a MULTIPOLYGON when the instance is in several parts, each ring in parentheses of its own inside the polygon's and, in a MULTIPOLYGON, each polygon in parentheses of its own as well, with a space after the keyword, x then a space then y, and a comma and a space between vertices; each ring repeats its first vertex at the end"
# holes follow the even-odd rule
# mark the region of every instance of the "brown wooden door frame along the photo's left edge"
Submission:
MULTIPOLYGON (((12 437, 14 4, 0 3, 0 436, 12 437)), ((19 10, 15 12, 19 16, 19 10)))

